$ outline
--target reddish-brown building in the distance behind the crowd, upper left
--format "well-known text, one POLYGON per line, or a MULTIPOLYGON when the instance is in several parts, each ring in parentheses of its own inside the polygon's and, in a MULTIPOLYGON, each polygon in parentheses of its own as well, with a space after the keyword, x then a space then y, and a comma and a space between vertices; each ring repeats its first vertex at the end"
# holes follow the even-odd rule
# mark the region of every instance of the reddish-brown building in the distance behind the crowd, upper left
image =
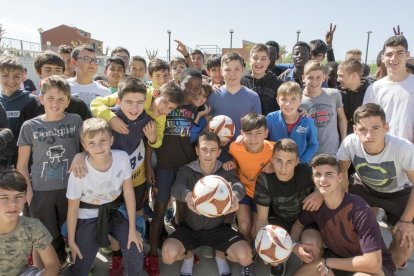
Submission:
POLYGON ((61 44, 67 44, 76 47, 80 44, 90 44, 98 55, 103 54, 103 42, 92 38, 91 33, 76 27, 60 25, 46 31, 39 30, 39 32, 42 50, 47 49, 43 45, 58 47, 61 44))

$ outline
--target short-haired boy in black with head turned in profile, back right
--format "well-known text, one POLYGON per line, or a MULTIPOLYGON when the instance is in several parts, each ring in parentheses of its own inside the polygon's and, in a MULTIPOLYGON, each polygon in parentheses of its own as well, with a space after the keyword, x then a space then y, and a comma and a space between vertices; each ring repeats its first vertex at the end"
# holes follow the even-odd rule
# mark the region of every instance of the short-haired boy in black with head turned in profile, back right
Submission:
POLYGON ((373 83, 370 78, 362 78, 363 65, 356 59, 347 59, 338 65, 338 82, 347 119, 347 135, 353 133, 352 116, 362 105, 365 91, 373 83))

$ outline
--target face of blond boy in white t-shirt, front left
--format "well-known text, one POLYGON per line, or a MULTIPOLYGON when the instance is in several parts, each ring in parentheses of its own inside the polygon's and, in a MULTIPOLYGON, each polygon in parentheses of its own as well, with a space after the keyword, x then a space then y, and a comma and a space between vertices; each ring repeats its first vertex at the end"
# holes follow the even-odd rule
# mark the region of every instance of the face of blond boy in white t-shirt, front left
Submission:
POLYGON ((86 136, 82 141, 83 148, 93 158, 106 158, 111 154, 113 136, 106 131, 100 131, 92 138, 86 136))

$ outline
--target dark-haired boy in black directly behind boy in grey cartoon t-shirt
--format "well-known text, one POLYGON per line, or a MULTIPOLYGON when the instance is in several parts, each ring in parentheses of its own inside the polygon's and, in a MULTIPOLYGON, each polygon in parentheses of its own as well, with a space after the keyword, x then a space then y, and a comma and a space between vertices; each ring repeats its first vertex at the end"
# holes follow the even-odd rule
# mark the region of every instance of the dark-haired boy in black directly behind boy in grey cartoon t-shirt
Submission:
MULTIPOLYGON (((65 68, 65 61, 52 51, 45 51, 36 56, 35 69, 41 80, 53 75, 63 76, 62 72, 65 72, 65 68)), ((80 98, 72 95, 70 96, 69 105, 65 109, 65 112, 78 114, 81 116, 82 120, 92 117, 88 106, 80 98)), ((40 102, 39 97, 36 97, 35 100, 28 102, 22 110, 24 121, 33 119, 34 117, 44 113, 45 108, 40 102)))

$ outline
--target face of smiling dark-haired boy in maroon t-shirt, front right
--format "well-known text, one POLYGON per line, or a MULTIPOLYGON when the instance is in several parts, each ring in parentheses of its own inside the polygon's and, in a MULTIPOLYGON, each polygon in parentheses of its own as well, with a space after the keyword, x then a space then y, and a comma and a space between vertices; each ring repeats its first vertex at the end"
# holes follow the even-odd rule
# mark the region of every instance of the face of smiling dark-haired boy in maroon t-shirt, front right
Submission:
POLYGON ((321 165, 312 168, 312 178, 316 188, 322 196, 341 189, 342 175, 330 165, 321 165))

